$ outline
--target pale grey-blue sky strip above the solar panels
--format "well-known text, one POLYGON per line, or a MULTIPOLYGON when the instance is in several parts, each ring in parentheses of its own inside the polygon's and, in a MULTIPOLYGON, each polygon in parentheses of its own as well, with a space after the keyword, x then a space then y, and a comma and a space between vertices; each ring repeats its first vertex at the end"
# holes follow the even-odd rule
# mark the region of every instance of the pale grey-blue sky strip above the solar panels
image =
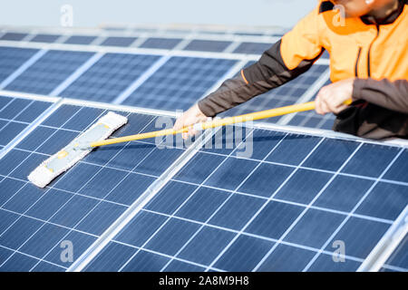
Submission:
POLYGON ((1 1, 0 25, 59 26, 63 5, 74 27, 100 24, 223 24, 291 27, 317 0, 12 0, 1 1))

